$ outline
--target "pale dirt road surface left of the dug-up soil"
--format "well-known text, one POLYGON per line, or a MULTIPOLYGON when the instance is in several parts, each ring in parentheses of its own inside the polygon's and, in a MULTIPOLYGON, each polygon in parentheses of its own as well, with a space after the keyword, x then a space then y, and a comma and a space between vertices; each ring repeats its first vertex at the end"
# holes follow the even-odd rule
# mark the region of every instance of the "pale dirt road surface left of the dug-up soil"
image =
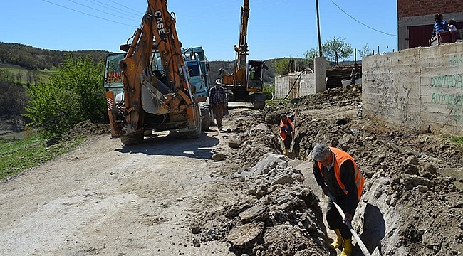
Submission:
POLYGON ((217 171, 219 132, 120 146, 108 134, 0 183, 0 255, 227 255, 187 213, 217 171))

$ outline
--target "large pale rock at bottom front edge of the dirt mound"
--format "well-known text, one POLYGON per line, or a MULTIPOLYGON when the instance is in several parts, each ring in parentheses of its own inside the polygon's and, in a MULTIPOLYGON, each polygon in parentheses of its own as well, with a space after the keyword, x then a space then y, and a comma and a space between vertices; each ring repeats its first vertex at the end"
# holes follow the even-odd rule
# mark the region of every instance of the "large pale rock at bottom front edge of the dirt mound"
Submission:
POLYGON ((264 223, 248 223, 230 230, 227 235, 227 242, 236 249, 244 250, 259 241, 263 233, 264 223))

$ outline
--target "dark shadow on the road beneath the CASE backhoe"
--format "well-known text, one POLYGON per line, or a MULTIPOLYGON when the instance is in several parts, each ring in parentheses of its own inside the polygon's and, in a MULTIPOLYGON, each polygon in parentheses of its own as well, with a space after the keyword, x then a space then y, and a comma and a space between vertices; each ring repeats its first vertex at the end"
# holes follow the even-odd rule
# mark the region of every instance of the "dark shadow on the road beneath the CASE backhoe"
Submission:
POLYGON ((197 139, 183 139, 182 134, 170 133, 163 136, 145 138, 142 143, 116 149, 121 153, 142 153, 147 155, 185 156, 195 159, 210 159, 215 153, 213 147, 219 139, 204 132, 197 139))

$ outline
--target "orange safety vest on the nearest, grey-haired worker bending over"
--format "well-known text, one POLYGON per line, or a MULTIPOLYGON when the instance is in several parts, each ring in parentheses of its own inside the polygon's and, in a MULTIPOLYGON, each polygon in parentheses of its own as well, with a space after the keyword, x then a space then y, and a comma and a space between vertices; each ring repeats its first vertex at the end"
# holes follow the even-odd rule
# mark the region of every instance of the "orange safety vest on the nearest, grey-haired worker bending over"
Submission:
MULTIPOLYGON (((335 160, 334 160, 334 174, 336 176, 336 181, 338 181, 338 185, 347 195, 348 191, 345 189, 345 186, 342 181, 340 181, 340 166, 344 163, 345 160, 350 160, 354 164, 354 178, 355 178, 355 186, 357 187, 357 195, 358 201, 360 202, 360 196, 362 196, 363 192, 363 184, 365 183, 365 178, 363 178, 362 174, 360 174, 360 169, 358 169, 357 164, 355 164, 354 159, 349 154, 345 153, 340 149, 336 149, 330 146, 331 151, 333 151, 335 160)), ((318 167, 321 172, 321 176, 323 177, 323 171, 321 171, 321 162, 318 162, 318 167)))

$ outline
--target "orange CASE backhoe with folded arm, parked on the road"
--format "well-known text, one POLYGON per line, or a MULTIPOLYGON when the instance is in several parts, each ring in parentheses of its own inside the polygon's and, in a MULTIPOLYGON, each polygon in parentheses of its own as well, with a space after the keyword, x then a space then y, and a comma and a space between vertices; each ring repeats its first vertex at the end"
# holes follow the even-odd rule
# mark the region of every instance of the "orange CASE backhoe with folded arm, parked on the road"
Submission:
POLYGON ((106 91, 112 136, 124 145, 140 143, 152 132, 163 130, 199 137, 199 104, 189 82, 175 14, 167 11, 166 0, 148 1, 132 42, 120 49, 125 56, 112 63, 118 65, 120 74, 105 70, 105 79, 123 83, 120 93, 106 91))

